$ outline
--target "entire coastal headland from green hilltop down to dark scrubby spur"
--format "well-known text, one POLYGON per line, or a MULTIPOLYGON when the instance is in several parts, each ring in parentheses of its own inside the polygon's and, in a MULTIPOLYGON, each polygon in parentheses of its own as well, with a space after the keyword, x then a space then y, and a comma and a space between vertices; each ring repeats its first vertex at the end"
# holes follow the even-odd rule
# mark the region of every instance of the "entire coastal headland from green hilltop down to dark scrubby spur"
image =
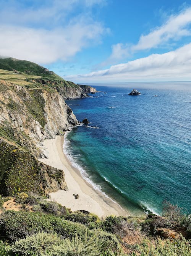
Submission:
POLYGON ((0 69, 0 193, 66 189, 64 173, 37 158, 47 157, 44 139, 62 135, 78 124, 64 99, 86 97, 86 90, 34 63, 30 69, 27 62, 27 70, 20 72, 13 63, 19 63, 21 69, 26 61, 22 66, 22 61, 10 59, 0 59, 0 68, 9 63, 9 70, 0 69), (47 77, 39 76, 42 72, 47 77))

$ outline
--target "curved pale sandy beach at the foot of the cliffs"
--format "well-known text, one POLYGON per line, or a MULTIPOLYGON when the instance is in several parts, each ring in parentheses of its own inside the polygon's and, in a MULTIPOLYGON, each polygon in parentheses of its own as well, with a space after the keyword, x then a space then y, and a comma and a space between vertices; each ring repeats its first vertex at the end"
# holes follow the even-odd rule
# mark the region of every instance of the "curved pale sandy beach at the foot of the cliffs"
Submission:
POLYGON ((56 136, 55 139, 45 140, 43 146, 49 152, 48 159, 39 159, 39 161, 52 167, 63 170, 68 190, 58 190, 50 193, 52 200, 71 208, 72 211, 86 210, 95 213, 99 217, 107 215, 128 216, 130 213, 110 198, 97 190, 91 184, 87 183, 81 177, 78 169, 74 168, 63 153, 63 136, 56 136), (79 194, 75 199, 73 194, 79 194))

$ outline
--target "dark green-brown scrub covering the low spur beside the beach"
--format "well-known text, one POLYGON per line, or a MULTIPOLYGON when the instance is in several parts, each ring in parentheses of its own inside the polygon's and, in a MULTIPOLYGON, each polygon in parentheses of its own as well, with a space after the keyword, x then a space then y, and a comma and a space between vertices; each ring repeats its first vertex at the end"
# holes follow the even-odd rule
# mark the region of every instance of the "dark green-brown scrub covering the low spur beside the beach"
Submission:
POLYGON ((0 140, 0 193, 17 195, 21 192, 43 193, 47 179, 54 176, 58 183, 63 172, 37 161, 29 152, 0 140), (56 174, 55 174, 56 173, 56 174))

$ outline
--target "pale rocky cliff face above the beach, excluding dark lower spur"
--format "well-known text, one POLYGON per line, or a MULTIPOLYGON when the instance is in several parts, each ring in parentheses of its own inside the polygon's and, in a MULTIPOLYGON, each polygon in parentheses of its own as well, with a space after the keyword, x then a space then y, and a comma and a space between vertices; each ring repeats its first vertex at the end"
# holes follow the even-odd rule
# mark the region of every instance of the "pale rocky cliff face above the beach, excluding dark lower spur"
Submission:
POLYGON ((57 91, 26 89, 3 80, 0 88, 0 136, 36 156, 43 155, 37 150, 41 140, 52 139, 78 124, 57 91))

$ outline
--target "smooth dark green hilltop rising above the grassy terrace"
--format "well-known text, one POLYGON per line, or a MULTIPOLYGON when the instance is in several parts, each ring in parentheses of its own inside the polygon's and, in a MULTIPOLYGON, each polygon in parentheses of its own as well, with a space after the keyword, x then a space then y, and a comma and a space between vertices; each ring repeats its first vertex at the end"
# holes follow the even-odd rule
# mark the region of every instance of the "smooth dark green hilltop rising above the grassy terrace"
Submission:
POLYGON ((19 60, 15 58, 0 58, 0 69, 19 71, 29 75, 47 77, 52 79, 64 80, 53 71, 33 63, 31 61, 19 60))

